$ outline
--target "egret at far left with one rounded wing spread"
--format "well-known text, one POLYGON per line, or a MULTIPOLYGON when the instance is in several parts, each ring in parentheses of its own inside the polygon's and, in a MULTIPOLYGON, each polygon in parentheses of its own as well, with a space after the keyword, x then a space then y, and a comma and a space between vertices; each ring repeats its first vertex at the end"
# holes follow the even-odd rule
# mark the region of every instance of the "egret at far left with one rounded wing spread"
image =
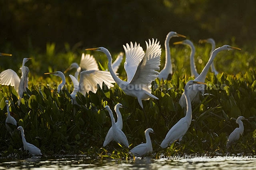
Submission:
POLYGON ((7 86, 14 86, 15 90, 19 94, 19 97, 22 98, 23 92, 26 91, 28 87, 28 67, 25 66, 25 63, 31 58, 24 58, 22 62, 21 70, 21 79, 16 72, 12 69, 4 70, 0 73, 0 84, 7 86))

